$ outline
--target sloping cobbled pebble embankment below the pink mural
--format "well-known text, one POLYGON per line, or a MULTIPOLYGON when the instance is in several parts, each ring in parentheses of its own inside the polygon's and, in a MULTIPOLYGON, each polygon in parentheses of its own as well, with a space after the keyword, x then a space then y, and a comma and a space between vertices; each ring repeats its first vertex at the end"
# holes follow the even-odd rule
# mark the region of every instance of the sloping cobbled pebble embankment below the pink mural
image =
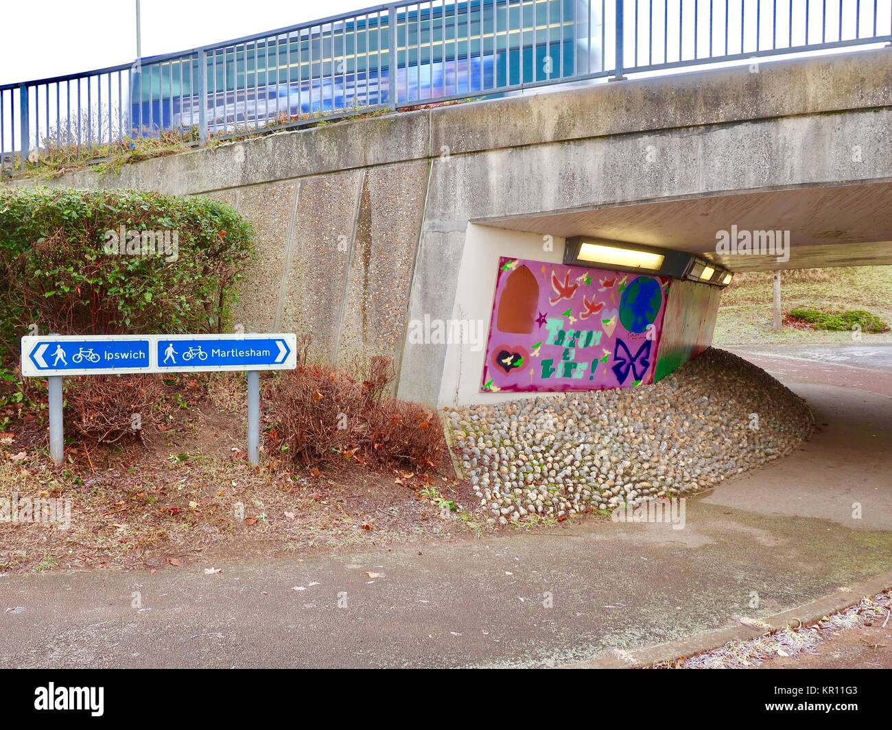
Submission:
POLYGON ((805 402, 710 349, 655 386, 450 410, 488 524, 558 520, 694 494, 785 456, 812 433, 805 402))

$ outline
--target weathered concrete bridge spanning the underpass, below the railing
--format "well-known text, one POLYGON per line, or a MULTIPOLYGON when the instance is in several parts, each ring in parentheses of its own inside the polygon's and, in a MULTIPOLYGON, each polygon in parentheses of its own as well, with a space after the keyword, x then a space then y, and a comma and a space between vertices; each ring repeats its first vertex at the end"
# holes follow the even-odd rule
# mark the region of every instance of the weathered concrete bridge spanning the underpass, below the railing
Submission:
POLYGON ((392 357, 401 397, 448 404, 510 396, 480 392, 484 353, 407 333, 488 322, 500 256, 560 262, 567 237, 594 236, 731 271, 892 263, 890 143, 884 48, 372 116, 52 184, 232 203, 259 249, 236 322, 310 333, 344 367, 392 357), (716 253, 732 226, 789 231, 789 260, 716 253))

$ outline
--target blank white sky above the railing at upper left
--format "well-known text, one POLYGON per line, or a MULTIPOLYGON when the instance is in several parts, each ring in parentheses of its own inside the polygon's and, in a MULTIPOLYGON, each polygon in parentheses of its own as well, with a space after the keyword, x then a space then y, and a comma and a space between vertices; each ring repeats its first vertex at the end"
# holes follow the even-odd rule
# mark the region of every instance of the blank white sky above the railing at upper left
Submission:
MULTIPOLYGON (((142 0, 143 55, 183 51, 376 4, 142 0)), ((136 0, 38 0, 2 6, 0 84, 101 69, 136 58, 136 0)))

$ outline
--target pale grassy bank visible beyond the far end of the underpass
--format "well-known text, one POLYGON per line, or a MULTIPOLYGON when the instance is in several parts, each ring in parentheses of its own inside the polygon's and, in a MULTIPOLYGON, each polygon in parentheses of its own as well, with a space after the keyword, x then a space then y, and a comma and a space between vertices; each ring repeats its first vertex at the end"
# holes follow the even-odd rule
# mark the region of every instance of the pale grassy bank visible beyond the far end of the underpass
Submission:
MULTIPOLYGON (((892 266, 784 271, 780 301, 783 311, 865 311, 884 322, 892 319, 892 266)), ((851 327, 842 330, 785 326, 772 330, 772 273, 738 274, 719 304, 714 345, 852 344, 851 327)), ((863 316, 863 315, 862 315, 863 316)), ((863 328, 863 344, 892 344, 889 331, 863 328)))

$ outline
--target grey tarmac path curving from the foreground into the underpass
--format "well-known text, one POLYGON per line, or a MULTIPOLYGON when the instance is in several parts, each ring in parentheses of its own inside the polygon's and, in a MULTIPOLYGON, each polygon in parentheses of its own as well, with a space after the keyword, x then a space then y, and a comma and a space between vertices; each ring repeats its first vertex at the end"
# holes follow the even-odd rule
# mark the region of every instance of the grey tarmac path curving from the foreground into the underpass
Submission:
POLYGON ((889 353, 869 361, 882 371, 753 355, 825 425, 690 500, 684 529, 590 520, 218 575, 7 576, 0 667, 555 666, 845 593, 892 570, 889 353), (851 386, 864 380, 875 392, 851 386))

